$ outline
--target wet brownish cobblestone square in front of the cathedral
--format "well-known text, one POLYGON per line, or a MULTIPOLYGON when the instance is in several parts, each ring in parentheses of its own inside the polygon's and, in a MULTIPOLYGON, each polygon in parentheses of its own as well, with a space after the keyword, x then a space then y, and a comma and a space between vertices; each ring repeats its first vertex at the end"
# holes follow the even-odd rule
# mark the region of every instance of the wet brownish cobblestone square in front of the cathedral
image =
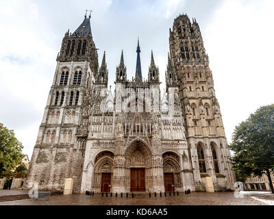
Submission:
POLYGON ((243 192, 243 198, 235 198, 234 192, 192 192, 179 196, 129 196, 101 197, 86 194, 58 195, 49 198, 25 199, 1 202, 0 205, 274 205, 270 192, 243 192))

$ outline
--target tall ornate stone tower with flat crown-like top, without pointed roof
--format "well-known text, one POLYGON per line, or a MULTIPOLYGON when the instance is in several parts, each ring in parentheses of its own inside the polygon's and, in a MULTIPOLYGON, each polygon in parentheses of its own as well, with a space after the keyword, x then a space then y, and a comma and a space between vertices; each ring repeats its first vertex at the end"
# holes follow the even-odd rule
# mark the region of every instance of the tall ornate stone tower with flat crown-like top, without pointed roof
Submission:
POLYGON ((179 83, 195 187, 203 184, 204 176, 210 175, 214 185, 232 188, 235 176, 229 162, 231 155, 196 19, 191 23, 186 14, 175 18, 169 45, 169 69, 177 73, 170 78, 174 81, 177 77, 179 83))

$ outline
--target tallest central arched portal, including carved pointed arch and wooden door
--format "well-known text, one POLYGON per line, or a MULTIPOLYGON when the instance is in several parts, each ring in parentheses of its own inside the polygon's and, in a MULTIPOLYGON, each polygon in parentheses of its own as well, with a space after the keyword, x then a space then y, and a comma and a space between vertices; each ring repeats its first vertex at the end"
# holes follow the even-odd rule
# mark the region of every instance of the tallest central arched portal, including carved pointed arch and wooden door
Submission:
POLYGON ((151 188, 151 151, 142 140, 129 144, 125 151, 127 191, 147 192, 151 188))

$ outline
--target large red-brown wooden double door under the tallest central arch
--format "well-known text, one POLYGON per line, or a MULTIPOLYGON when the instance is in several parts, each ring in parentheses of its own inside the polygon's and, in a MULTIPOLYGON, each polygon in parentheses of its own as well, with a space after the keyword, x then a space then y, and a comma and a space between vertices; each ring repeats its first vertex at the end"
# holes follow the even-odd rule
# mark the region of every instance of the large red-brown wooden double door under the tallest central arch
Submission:
POLYGON ((130 169, 130 192, 145 192, 145 168, 130 169))

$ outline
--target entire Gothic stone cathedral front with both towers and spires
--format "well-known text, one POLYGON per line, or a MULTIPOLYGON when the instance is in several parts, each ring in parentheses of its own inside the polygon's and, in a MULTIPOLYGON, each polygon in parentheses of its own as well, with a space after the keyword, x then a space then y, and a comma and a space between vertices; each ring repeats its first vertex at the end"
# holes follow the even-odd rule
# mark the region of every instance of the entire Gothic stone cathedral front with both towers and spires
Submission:
POLYGON ((235 175, 215 96, 208 55, 196 20, 170 29, 166 90, 151 51, 142 77, 127 79, 124 54, 108 87, 105 53, 99 66, 90 16, 66 32, 27 176, 39 190, 73 192, 184 192, 232 188, 235 175))

